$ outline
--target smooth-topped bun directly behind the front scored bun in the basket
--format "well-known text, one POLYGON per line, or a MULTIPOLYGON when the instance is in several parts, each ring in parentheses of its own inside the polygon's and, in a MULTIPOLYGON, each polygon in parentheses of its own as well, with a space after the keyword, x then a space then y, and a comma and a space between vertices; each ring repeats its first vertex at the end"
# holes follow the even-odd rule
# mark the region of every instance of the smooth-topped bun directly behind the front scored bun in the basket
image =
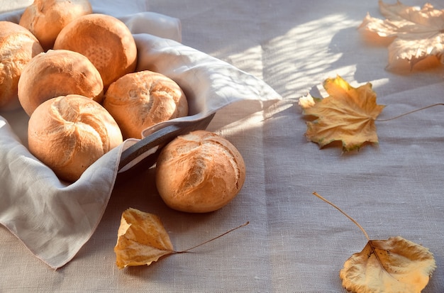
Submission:
POLYGON ((43 101, 67 94, 87 96, 98 103, 104 97, 99 72, 78 52, 40 53, 28 62, 18 80, 18 99, 29 116, 43 101))

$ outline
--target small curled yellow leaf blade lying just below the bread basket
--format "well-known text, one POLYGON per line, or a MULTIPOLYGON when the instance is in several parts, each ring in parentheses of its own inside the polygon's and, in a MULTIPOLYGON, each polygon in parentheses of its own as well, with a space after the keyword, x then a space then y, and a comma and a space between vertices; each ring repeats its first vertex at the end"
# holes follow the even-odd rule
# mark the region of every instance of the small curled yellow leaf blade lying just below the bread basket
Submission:
POLYGON ((170 236, 154 214, 132 208, 123 211, 117 236, 114 252, 119 268, 150 265, 174 253, 170 236))

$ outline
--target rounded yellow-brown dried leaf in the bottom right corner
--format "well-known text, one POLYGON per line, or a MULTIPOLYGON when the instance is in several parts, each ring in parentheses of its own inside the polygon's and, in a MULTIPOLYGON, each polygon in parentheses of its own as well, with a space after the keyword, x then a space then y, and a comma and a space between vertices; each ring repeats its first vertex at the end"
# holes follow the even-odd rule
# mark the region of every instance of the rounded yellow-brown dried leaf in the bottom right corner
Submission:
POLYGON ((428 248, 400 236, 368 241, 340 270, 343 287, 355 293, 421 292, 435 270, 428 248))

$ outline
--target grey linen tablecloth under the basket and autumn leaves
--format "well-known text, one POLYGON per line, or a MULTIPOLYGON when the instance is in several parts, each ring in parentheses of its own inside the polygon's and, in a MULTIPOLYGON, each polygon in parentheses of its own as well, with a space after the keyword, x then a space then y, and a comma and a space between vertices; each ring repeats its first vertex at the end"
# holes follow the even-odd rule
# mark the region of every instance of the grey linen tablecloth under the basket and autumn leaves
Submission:
MULTIPOLYGON (((373 84, 378 104, 387 105, 380 118, 443 102, 444 67, 396 74, 385 70, 386 46, 362 41, 357 26, 367 12, 381 17, 376 0, 112 2, 92 3, 115 5, 121 15, 145 9, 178 18, 184 45, 255 75, 283 99, 254 113, 248 101, 228 106, 211 122, 209 130, 231 140, 247 166, 245 185, 228 206, 179 213, 162 203, 152 170, 118 176, 96 231, 58 270, 0 226, 0 292, 345 292, 339 270, 367 240, 315 191, 370 238, 402 236, 430 248, 437 268, 423 292, 444 292, 443 109, 377 122, 379 145, 342 153, 306 140, 295 106, 337 74, 354 87, 373 84), (250 225, 193 253, 118 270, 113 246, 128 207, 160 216, 179 250, 250 225)), ((4 0, 0 7, 28 3, 4 0)))

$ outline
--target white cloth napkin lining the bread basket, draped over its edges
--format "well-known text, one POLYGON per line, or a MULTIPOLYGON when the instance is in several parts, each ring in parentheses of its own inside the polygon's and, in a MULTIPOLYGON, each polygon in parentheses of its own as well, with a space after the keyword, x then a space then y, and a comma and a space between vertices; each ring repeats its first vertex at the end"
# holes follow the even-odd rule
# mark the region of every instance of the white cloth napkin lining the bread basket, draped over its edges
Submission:
MULTIPOLYGON (((166 74, 186 92, 190 116, 176 121, 206 116, 234 101, 280 99, 260 79, 180 44, 179 20, 150 12, 122 16, 116 11, 108 12, 135 34, 138 70, 166 74)), ((0 20, 18 21, 19 16, 20 12, 8 13, 0 20)), ((24 111, 0 115, 0 223, 37 258, 52 268, 62 267, 94 233, 111 196, 121 151, 134 140, 111 150, 77 182, 67 184, 28 152, 24 111)))

